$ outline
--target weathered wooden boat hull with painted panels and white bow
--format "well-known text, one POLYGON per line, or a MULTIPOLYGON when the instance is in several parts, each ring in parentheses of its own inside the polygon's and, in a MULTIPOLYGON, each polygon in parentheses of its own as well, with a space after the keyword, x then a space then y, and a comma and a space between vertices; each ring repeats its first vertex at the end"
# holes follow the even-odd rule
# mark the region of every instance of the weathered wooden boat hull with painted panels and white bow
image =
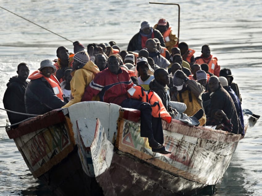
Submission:
POLYGON ((220 182, 243 139, 172 119, 162 121, 172 153, 153 153, 140 137, 139 116, 116 104, 81 102, 6 132, 33 176, 57 195, 196 193, 220 182))

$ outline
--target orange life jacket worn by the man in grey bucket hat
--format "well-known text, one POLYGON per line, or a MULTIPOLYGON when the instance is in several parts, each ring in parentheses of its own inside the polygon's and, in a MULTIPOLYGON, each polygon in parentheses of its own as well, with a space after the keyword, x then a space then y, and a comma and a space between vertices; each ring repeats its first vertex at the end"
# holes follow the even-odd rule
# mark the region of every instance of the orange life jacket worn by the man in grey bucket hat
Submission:
POLYGON ((57 97, 59 97, 61 100, 64 100, 63 92, 62 92, 60 83, 57 80, 56 76, 54 76, 53 74, 48 78, 48 77, 45 77, 43 74, 41 74, 41 72, 39 70, 37 70, 37 71, 34 71, 28 77, 28 79, 35 80, 35 79, 38 79, 38 78, 41 78, 41 77, 43 77, 50 84, 50 86, 52 87, 53 92, 55 93, 55 95, 57 97))

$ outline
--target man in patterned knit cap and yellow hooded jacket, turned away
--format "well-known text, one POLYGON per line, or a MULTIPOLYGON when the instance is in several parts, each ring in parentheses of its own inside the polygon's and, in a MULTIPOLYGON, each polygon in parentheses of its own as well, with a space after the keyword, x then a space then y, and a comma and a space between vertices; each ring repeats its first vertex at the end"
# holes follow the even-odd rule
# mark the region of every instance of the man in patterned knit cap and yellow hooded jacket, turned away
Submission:
POLYGON ((74 97, 63 108, 76 104, 81 101, 85 92, 85 88, 94 79, 95 74, 99 72, 99 68, 90 61, 87 51, 80 51, 74 55, 73 72, 71 85, 71 93, 74 97))

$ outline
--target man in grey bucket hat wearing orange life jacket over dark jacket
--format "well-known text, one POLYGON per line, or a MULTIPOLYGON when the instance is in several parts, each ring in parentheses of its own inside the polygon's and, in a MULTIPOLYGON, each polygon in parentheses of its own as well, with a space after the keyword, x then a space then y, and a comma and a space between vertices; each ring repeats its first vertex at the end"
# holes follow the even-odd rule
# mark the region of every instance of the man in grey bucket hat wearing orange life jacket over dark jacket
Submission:
POLYGON ((66 104, 60 83, 53 75, 56 70, 52 61, 45 59, 40 63, 40 68, 28 77, 31 80, 25 91, 28 114, 44 114, 66 104))

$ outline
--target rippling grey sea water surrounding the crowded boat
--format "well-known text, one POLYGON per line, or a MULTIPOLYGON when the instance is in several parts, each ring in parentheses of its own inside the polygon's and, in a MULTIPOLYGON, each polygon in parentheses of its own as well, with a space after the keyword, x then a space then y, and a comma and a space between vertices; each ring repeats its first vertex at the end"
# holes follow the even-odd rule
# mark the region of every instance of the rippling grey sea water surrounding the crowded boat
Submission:
MULTIPOLYGON (((262 2, 251 0, 178 0, 180 41, 201 55, 201 46, 209 44, 222 68, 232 70, 243 97, 242 108, 261 115, 262 77, 262 2)), ((72 41, 104 43, 111 40, 126 49, 138 32, 140 23, 148 20, 153 26, 166 18, 177 32, 177 6, 152 5, 138 0, 1 0, 0 6, 15 12, 72 41)), ((0 108, 9 77, 16 75, 20 62, 31 71, 46 58, 55 59, 57 47, 73 51, 73 45, 5 10, 0 9, 0 108)), ((5 125, 6 112, 0 111, 0 124, 5 125)), ((213 194, 262 195, 262 121, 248 129, 239 142, 222 182, 213 187, 213 194)), ((0 195, 49 195, 34 179, 13 140, 0 129, 0 195)), ((197 195, 211 195, 207 187, 197 195)))

